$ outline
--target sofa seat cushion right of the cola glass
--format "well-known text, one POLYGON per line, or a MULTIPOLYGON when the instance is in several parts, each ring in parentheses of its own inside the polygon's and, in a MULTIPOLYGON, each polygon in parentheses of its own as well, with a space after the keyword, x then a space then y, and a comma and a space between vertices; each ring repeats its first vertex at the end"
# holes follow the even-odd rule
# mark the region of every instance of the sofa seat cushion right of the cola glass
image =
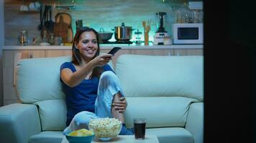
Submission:
POLYGON ((193 143, 193 136, 191 132, 182 127, 165 127, 146 129, 147 134, 154 134, 161 143, 193 143))

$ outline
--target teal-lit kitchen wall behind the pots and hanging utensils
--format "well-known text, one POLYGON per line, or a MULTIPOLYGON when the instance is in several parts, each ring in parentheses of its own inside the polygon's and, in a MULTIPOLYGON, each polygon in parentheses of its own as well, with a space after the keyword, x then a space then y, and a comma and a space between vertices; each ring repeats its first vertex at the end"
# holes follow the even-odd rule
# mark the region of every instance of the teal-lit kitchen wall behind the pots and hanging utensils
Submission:
MULTIPOLYGON (((165 31, 172 36, 172 24, 175 23, 175 14, 178 9, 188 9, 188 0, 55 0, 55 1, 35 1, 35 0, 5 0, 4 1, 4 45, 18 45, 18 36, 22 29, 28 31, 29 45, 32 39, 40 39, 40 11, 26 11, 24 6, 39 2, 52 6, 52 21, 55 15, 60 12, 70 14, 73 34, 76 32, 76 20, 82 19, 83 26, 91 26, 99 31, 114 32, 114 26, 132 26, 132 39, 135 41, 137 29, 142 32, 140 38, 144 41, 144 29, 142 21, 151 21, 149 41, 153 41, 153 36, 157 31, 157 16, 159 11, 166 12, 165 31)), ((115 41, 114 35, 109 41, 115 41)), ((37 42, 37 45, 39 42, 37 42)))

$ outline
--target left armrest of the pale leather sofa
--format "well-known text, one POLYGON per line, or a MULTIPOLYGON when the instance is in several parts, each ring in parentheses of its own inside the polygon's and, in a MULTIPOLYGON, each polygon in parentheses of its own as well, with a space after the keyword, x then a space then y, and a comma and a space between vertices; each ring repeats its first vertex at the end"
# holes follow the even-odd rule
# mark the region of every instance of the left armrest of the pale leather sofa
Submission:
POLYGON ((0 107, 1 142, 27 143, 41 132, 37 107, 34 104, 9 104, 0 107))

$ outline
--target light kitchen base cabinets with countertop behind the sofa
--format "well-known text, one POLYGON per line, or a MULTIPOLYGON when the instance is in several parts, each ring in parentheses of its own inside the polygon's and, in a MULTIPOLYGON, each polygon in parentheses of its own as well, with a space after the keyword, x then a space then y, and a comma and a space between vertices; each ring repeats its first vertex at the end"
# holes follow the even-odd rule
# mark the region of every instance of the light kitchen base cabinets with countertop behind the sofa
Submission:
MULTIPOLYGON (((101 53, 108 53, 112 47, 101 46, 101 53)), ((118 45, 120 46, 120 45, 118 45)), ((203 46, 171 45, 171 46, 123 46, 114 57, 112 63, 115 68, 116 59, 122 54, 144 54, 161 56, 183 56, 183 55, 203 55, 203 46)), ((17 101, 15 92, 15 72, 18 59, 71 56, 71 46, 4 46, 3 49, 3 85, 4 85, 4 105, 17 101)))

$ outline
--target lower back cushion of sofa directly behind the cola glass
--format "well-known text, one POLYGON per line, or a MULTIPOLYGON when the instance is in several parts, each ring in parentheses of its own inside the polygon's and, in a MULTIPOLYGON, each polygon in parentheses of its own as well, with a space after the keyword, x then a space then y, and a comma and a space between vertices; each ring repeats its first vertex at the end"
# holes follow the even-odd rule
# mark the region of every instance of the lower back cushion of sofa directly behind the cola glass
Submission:
POLYGON ((147 127, 185 127, 188 109, 196 99, 188 97, 127 97, 127 127, 134 118, 146 118, 147 127))

